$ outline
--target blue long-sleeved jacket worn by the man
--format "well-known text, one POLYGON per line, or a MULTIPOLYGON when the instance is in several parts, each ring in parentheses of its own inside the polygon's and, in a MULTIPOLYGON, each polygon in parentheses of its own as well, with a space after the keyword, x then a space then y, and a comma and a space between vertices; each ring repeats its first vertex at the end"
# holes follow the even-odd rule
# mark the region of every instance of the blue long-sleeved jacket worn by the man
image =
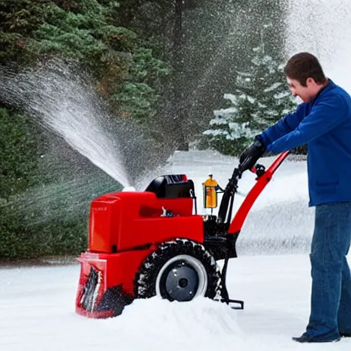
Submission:
POLYGON ((307 144, 309 206, 351 201, 351 97, 329 80, 258 138, 278 154, 307 144))

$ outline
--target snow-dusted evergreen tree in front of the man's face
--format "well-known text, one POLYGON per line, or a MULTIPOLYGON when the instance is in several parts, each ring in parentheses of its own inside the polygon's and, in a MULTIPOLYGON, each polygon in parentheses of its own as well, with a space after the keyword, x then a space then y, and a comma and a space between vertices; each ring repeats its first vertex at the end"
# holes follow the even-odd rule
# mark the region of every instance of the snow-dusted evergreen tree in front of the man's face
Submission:
POLYGON ((223 96, 230 106, 215 110, 210 129, 204 132, 210 146, 223 154, 239 154, 256 134, 295 106, 282 63, 266 55, 263 44, 253 53, 247 70, 237 72, 234 93, 223 96))

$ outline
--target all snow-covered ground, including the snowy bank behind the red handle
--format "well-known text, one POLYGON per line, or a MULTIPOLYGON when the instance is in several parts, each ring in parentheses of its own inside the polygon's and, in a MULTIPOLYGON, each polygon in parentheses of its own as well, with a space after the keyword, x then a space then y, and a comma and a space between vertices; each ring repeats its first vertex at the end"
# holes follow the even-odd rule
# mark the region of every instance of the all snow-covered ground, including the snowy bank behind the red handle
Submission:
MULTIPOLYGON (((236 162, 208 152, 178 153, 163 171, 184 172, 195 180, 200 209, 207 175, 213 173, 225 186, 236 162)), ((86 319, 74 311, 79 265, 3 267, 0 350, 350 350, 348 339, 308 346, 291 341, 304 331, 309 312, 308 253, 304 245, 292 245, 308 242, 313 228, 305 167, 305 162, 286 160, 245 223, 239 258, 228 267, 230 297, 245 301, 243 311, 205 298, 187 303, 152 298, 133 302, 116 318, 86 319), (296 232, 300 237, 294 237, 296 232), (250 250, 249 239, 255 237, 256 247, 250 250), (265 247, 265 237, 271 243, 286 237, 288 245, 279 241, 265 247), (276 254, 268 255, 266 248, 276 254), (302 253, 282 254, 289 250, 302 253)), ((247 191, 254 181, 248 173, 239 190, 247 191)))

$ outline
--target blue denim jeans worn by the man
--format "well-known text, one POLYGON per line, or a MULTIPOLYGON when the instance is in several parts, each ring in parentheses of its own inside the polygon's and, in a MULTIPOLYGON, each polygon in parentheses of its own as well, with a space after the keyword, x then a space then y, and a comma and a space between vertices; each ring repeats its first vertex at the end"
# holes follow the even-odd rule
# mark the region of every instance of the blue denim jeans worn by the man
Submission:
POLYGON ((332 340, 351 332, 351 274, 346 261, 351 239, 351 202, 315 208, 311 245, 311 315, 307 335, 332 340))

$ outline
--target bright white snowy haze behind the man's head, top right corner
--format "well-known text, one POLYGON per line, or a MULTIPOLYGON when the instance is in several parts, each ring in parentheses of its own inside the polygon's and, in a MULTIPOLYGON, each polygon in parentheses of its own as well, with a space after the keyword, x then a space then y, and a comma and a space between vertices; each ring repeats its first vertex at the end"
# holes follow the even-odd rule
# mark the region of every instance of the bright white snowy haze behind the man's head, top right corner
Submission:
POLYGON ((350 0, 289 0, 287 56, 313 53, 324 73, 351 93, 350 0))

